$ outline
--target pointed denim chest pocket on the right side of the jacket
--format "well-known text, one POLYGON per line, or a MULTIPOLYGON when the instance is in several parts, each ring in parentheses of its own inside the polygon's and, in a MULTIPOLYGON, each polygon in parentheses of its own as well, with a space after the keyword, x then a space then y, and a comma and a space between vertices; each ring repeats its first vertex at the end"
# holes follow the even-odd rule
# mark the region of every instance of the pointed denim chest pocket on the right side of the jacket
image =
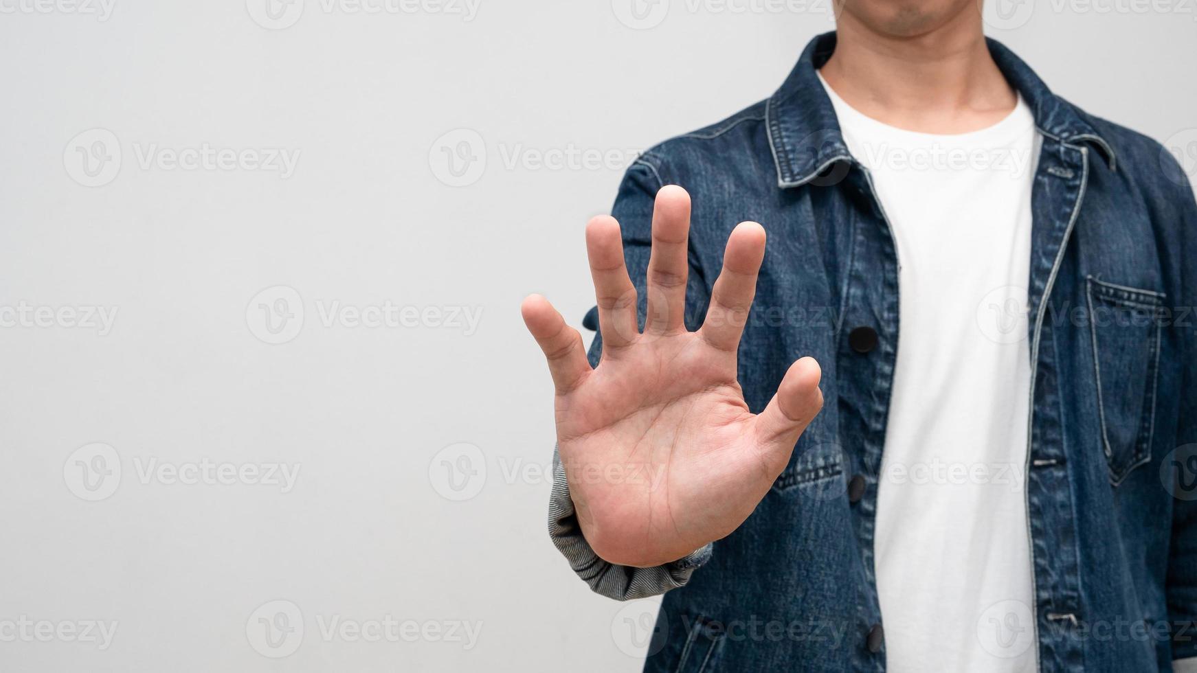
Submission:
POLYGON ((1087 282, 1101 443, 1118 485, 1152 458, 1163 294, 1087 282))

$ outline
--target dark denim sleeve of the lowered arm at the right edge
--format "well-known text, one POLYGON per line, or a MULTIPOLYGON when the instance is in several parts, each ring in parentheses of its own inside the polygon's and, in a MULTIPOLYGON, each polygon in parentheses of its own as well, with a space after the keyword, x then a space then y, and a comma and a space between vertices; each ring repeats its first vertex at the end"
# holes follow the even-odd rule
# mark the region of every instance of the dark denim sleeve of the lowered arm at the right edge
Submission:
MULTIPOLYGON (((1197 202, 1179 165, 1166 165, 1172 169, 1173 179, 1183 185, 1175 208, 1179 210, 1177 222, 1180 227, 1180 287, 1174 300, 1175 307, 1197 306, 1197 202)), ((1178 313, 1179 316, 1179 313, 1178 313)), ((1181 361, 1181 391, 1192 391, 1197 386, 1197 339, 1193 338, 1192 324, 1189 320, 1178 322, 1172 329, 1178 330, 1181 361)), ((1197 485, 1192 479, 1193 465, 1197 463, 1197 394, 1183 394, 1180 400, 1179 432, 1175 438, 1175 451, 1166 460, 1177 470, 1177 481, 1172 484, 1172 540, 1169 544, 1168 575, 1166 595, 1168 601, 1168 619, 1172 623, 1172 659, 1175 669, 1197 673, 1197 485), (1185 660, 1185 661, 1180 661, 1185 660)))

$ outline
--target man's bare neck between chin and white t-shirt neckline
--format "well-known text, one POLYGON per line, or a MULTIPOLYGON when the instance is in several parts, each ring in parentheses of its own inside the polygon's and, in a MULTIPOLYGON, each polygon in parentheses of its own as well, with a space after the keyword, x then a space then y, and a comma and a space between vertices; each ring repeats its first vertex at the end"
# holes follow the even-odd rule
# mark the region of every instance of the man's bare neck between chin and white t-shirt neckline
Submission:
POLYGON ((836 32, 824 79, 849 105, 889 126, 968 133, 997 123, 1017 103, 989 54, 979 12, 961 11, 911 37, 882 35, 844 12, 836 32))

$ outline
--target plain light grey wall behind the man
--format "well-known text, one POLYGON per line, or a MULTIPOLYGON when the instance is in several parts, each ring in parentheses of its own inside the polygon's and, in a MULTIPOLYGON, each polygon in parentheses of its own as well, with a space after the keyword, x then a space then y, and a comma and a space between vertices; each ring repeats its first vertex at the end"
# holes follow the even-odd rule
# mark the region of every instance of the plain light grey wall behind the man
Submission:
MULTIPOLYGON (((638 671, 652 602, 545 533, 518 304, 579 322, 631 153, 767 97, 826 2, 78 1, 0 0, 0 668, 638 671), (205 146, 242 159, 170 167, 205 146), (205 461, 298 477, 171 477, 205 461), (424 635, 353 637, 388 617, 424 635)), ((1197 5, 1009 8, 1057 92, 1197 148, 1197 5)))

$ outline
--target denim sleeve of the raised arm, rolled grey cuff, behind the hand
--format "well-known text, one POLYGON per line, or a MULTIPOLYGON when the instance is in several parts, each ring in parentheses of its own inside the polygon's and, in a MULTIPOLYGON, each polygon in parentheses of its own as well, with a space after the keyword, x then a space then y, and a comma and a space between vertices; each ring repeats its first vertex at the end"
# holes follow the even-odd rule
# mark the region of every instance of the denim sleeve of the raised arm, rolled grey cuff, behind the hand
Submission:
MULTIPOLYGON (((619 220, 622 231, 624 257, 627 273, 636 285, 637 312, 642 329, 648 296, 645 274, 652 245, 652 204, 657 190, 667 184, 662 181, 661 171, 662 164, 652 153, 637 159, 624 176, 612 209, 612 215, 619 220)), ((709 301, 706 283, 692 253, 686 288, 686 324, 691 330, 701 324, 709 301)), ((591 310, 587 323, 591 323, 590 317, 594 314, 596 311, 591 310)), ((591 366, 597 366, 601 354, 602 337, 595 335, 589 353, 591 366)), ((557 451, 553 452, 553 492, 548 503, 548 534, 557 549, 569 559, 573 571, 590 586, 591 591, 616 600, 646 598, 685 586, 694 570, 710 559, 712 547, 707 544, 683 558, 655 568, 630 568, 603 561, 590 549, 578 526, 573 501, 570 500, 570 484, 557 451)))

